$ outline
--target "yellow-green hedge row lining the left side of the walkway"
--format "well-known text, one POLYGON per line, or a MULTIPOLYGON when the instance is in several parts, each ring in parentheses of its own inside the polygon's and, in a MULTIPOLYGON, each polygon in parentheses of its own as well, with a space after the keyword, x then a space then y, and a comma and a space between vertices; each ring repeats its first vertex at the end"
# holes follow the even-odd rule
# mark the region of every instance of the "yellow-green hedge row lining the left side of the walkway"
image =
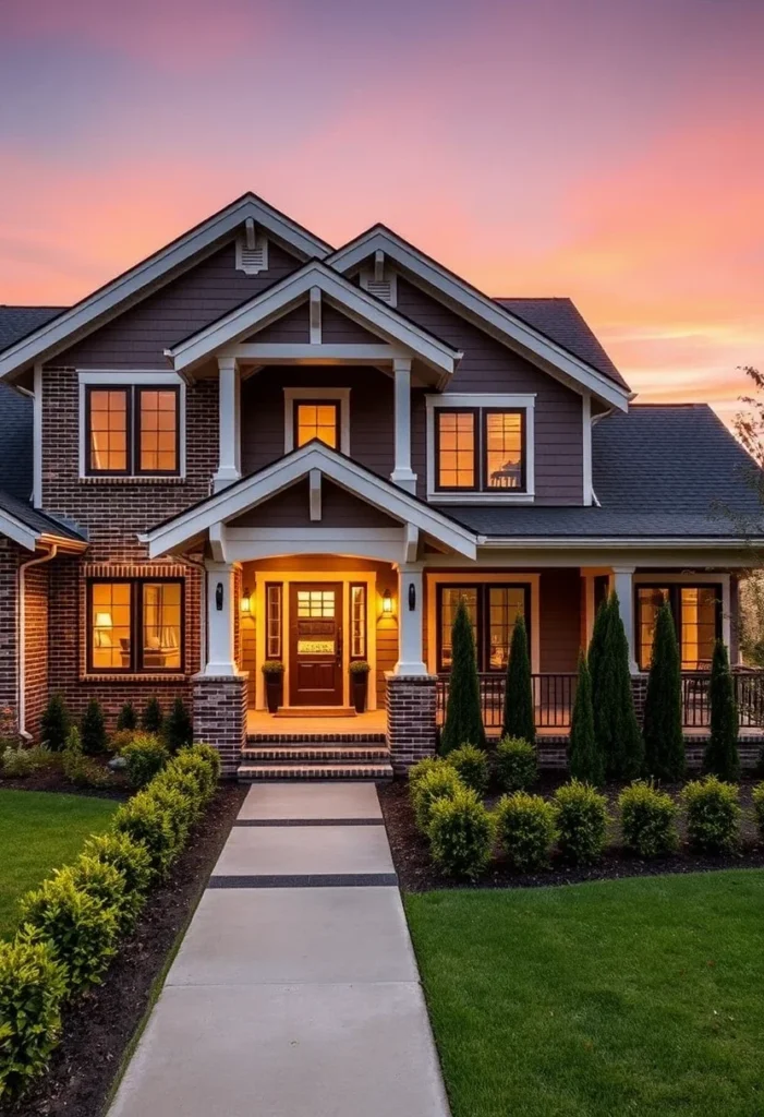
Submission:
POLYGON ((151 888, 181 853, 214 794, 220 757, 182 748, 93 837, 78 860, 21 899, 21 926, 0 943, 0 1098, 13 1098, 48 1063, 61 1008, 99 983, 151 888))

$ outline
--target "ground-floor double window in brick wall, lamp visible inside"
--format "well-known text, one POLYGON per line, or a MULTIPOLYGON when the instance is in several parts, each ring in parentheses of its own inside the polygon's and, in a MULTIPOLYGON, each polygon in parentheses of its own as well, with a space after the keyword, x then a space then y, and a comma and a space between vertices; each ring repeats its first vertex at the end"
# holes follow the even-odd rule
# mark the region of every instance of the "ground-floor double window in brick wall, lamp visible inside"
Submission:
POLYGON ((182 671, 183 583, 88 583, 89 671, 182 671))

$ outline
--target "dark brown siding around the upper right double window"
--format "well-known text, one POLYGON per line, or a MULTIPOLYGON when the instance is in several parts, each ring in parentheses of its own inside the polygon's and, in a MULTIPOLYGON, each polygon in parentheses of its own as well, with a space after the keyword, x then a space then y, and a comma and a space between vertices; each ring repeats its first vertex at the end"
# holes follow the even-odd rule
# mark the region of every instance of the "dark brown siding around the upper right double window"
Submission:
MULTIPOLYGON (((535 503, 581 504, 583 447, 580 395, 400 278, 398 309, 464 352, 448 391, 535 393, 535 503)), ((412 443, 418 491, 423 495, 425 408, 422 392, 415 392, 413 399, 412 443)))

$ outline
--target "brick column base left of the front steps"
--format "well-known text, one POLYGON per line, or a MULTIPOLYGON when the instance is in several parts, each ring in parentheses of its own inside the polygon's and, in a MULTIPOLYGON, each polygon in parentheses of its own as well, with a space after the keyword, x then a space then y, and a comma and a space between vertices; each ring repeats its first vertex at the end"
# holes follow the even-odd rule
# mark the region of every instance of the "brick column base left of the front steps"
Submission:
POLYGON ((194 741, 217 750, 223 776, 236 774, 246 741, 248 679, 246 672, 193 679, 194 741))

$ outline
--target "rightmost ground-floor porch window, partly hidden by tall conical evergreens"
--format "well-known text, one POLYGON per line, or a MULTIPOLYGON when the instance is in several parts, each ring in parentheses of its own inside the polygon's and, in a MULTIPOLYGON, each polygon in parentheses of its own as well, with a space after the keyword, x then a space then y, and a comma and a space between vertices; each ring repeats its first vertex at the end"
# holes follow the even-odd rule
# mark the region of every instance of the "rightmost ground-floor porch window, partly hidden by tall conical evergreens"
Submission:
POLYGON ((650 668, 656 618, 665 601, 671 605, 683 671, 709 670, 722 634, 722 586, 716 584, 637 586, 640 670, 650 668))

